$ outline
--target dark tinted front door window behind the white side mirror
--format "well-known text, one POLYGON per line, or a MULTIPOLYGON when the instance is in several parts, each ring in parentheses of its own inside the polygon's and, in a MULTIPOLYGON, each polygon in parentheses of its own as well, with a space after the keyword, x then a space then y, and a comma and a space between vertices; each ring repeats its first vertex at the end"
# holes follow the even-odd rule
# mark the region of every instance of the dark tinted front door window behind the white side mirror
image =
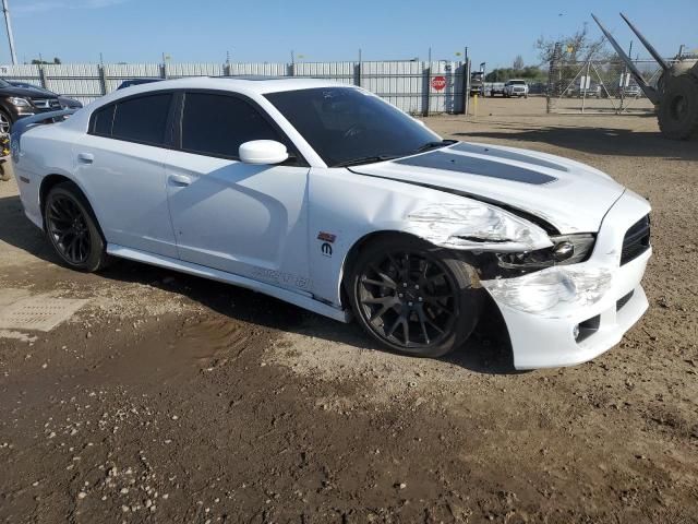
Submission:
POLYGON ((285 142, 260 111, 246 102, 233 96, 186 93, 182 150, 238 158, 240 144, 250 140, 285 142))

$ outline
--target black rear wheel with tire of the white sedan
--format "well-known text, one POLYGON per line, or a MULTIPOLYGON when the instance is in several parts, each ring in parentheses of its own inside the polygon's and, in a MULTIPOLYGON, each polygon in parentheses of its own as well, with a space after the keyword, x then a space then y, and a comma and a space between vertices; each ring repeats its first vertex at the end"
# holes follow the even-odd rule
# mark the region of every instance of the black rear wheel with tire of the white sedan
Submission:
POLYGON ((62 182, 50 189, 44 218, 49 241, 68 267, 93 273, 107 264, 106 242, 97 219, 74 183, 62 182))

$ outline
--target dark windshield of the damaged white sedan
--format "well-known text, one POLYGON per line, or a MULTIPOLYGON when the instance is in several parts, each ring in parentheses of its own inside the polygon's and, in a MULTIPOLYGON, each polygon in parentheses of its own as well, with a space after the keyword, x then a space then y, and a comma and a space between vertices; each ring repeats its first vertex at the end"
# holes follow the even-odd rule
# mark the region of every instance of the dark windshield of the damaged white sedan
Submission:
POLYGON ((352 87, 269 93, 266 98, 329 167, 423 151, 441 139, 371 93, 352 87))

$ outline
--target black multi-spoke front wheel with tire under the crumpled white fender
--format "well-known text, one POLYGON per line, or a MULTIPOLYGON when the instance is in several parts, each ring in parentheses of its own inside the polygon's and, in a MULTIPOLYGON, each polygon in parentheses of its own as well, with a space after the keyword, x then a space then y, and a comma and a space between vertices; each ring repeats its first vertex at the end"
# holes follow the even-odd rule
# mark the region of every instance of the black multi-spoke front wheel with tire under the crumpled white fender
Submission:
POLYGON ((362 249, 347 287, 373 338, 395 352, 441 357, 461 346, 480 319, 478 282, 453 251, 395 235, 362 249))

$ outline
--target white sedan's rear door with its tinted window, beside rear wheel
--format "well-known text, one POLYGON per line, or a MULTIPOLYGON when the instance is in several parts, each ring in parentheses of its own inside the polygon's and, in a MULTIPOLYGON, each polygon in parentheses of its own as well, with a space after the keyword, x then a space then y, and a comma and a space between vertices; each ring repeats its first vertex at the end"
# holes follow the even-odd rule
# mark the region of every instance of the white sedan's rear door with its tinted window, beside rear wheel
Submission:
POLYGON ((172 100, 172 92, 156 92, 105 106, 73 146, 77 180, 109 243, 177 257, 164 166, 172 100))

